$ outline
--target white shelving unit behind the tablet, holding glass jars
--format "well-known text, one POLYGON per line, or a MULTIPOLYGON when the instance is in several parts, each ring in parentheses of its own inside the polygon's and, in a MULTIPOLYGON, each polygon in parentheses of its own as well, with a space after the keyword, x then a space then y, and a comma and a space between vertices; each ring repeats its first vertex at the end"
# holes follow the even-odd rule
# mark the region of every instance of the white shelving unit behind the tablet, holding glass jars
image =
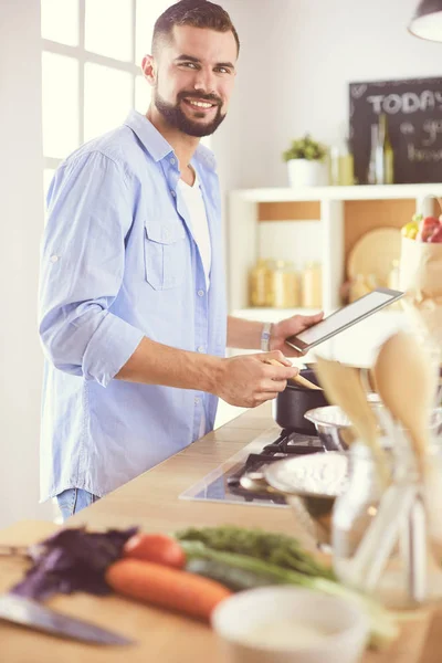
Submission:
MULTIPOLYGON (((232 315, 277 322, 306 309, 250 308, 248 276, 259 256, 259 204, 263 202, 319 202, 323 308, 328 315, 340 306, 339 287, 345 273, 345 202, 348 200, 413 200, 417 211, 429 214, 442 185, 312 187, 308 189, 244 189, 229 197, 229 309, 232 315)), ((320 346, 320 352, 352 364, 369 365, 379 344, 398 328, 407 327, 399 311, 379 312, 320 346)))

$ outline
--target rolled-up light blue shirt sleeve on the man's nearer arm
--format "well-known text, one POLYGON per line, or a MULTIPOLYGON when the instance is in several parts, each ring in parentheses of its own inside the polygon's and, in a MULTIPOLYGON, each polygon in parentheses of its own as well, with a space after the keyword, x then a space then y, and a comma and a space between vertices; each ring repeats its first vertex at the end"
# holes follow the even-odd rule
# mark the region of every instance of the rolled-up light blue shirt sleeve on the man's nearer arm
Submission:
POLYGON ((56 368, 104 387, 144 336, 109 311, 131 220, 125 173, 109 157, 85 154, 56 172, 41 251, 40 338, 56 368))

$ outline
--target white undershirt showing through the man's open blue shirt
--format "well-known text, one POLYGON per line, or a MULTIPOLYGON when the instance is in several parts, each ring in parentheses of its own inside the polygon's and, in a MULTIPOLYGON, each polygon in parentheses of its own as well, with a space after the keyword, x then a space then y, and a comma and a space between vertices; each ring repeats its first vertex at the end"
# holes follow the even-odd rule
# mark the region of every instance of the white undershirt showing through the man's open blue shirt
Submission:
MULTIPOLYGON (((204 270, 206 287, 210 286, 210 265, 212 261, 212 249, 210 244, 209 224, 206 214, 206 206, 202 199, 200 183, 196 173, 193 187, 187 185, 182 179, 178 180, 178 186, 186 202, 189 212, 192 235, 201 255, 202 267, 204 270)), ((206 433, 206 412, 202 410, 200 421, 199 436, 206 433)))

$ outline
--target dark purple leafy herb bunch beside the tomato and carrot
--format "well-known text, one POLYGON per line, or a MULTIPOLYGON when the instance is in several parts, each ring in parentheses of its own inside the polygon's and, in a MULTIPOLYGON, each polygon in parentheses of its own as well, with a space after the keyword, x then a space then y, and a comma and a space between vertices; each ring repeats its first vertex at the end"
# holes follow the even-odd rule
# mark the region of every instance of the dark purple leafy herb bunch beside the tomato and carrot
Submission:
POLYGON ((106 532, 86 532, 84 527, 62 529, 29 549, 33 565, 10 592, 38 601, 74 591, 109 593, 104 573, 122 557, 123 546, 137 530, 137 527, 106 532))

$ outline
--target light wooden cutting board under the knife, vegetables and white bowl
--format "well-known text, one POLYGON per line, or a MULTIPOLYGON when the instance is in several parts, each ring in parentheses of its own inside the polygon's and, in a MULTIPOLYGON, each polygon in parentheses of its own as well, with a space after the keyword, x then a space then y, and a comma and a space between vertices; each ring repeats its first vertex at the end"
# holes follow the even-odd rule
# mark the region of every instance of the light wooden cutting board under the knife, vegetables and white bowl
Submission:
MULTIPOLYGON (((73 525, 74 526, 74 525, 73 525)), ((57 529, 52 523, 25 520, 0 532, 0 545, 27 546, 57 529)), ((6 591, 23 575, 27 564, 0 557, 0 591, 6 591)), ((217 639, 209 627, 149 606, 116 596, 60 596, 49 604, 97 625, 113 628, 137 640, 129 648, 96 648, 50 638, 0 622, 0 661, 8 663, 223 663, 217 639), (173 638, 170 638, 173 633, 173 638), (2 657, 3 652, 8 654, 2 657)), ((368 651, 361 663, 441 663, 442 608, 408 615, 399 639, 386 652, 368 651), (427 635, 428 633, 428 635, 427 635)))

